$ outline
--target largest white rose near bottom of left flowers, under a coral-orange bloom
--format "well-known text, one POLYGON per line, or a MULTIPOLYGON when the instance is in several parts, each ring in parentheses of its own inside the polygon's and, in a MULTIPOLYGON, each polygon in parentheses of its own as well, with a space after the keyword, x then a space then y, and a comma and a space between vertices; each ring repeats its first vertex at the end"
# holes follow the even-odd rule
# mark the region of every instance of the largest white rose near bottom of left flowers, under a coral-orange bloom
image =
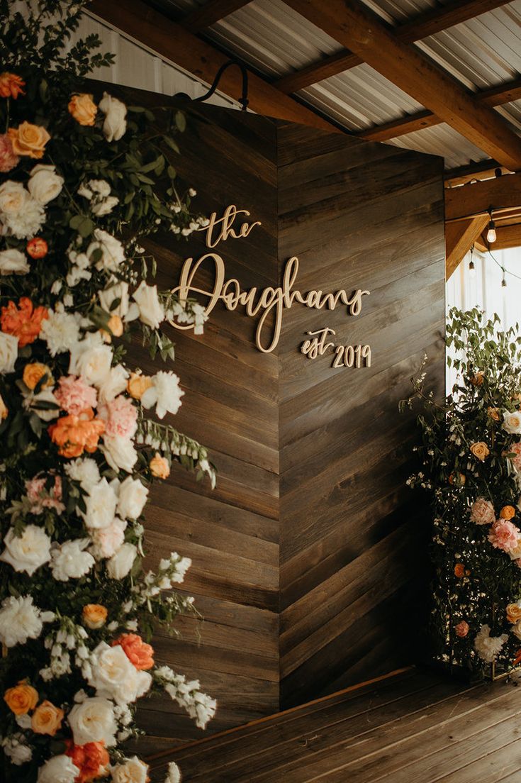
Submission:
POLYGON ((152 684, 148 672, 131 664, 120 644, 110 647, 102 641, 92 651, 92 677, 88 684, 96 695, 113 698, 117 704, 129 704, 146 694, 152 684))

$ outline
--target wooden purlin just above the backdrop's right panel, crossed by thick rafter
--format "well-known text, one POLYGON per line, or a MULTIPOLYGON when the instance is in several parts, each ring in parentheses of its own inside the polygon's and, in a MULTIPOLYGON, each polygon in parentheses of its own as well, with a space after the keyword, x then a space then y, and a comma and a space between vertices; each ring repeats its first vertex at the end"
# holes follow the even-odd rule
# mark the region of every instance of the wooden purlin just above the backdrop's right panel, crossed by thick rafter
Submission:
MULTIPOLYGON (((521 99, 521 78, 507 81, 498 87, 475 92, 472 96, 485 103, 487 106, 501 106, 503 103, 510 103, 513 100, 521 99)), ((396 139, 397 136, 414 131, 421 131, 423 128, 432 128, 433 125, 439 125, 444 120, 437 117, 430 111, 419 111, 417 114, 408 114, 407 117, 400 117, 397 120, 375 125, 374 128, 368 128, 365 131, 358 132, 361 139, 367 139, 372 142, 386 142, 389 139, 396 139)))

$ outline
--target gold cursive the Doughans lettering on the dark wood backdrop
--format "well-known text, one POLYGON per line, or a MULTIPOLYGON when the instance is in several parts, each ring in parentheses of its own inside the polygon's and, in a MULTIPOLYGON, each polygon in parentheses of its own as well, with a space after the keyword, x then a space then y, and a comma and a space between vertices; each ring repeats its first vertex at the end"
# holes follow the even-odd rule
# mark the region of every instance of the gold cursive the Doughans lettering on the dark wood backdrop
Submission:
MULTIPOLYGON (((217 302, 221 301, 228 310, 235 310, 239 305, 246 309, 246 315, 256 317, 260 315, 257 323, 255 335, 255 344, 259 351, 270 353, 278 345, 282 329, 282 316, 286 309, 293 306, 295 302, 300 305, 315 310, 329 309, 334 310, 339 303, 346 306, 347 312, 351 316, 358 316, 361 312, 362 298, 369 295, 368 290, 358 288, 352 294, 347 290, 338 290, 336 293, 325 294, 322 290, 311 290, 302 293, 295 286, 299 271, 299 260, 296 256, 289 258, 286 262, 284 273, 282 275, 282 285, 277 288, 267 287, 257 289, 252 287, 249 290, 242 290, 239 280, 235 277, 226 278, 225 262, 221 255, 214 252, 221 241, 232 239, 241 239, 248 236, 255 226, 260 226, 259 221, 246 222, 237 226, 235 221, 241 215, 250 216, 250 212, 245 209, 237 209, 234 204, 226 207, 225 213, 221 218, 217 218, 217 213, 210 215, 210 221, 203 230, 206 233, 206 245, 211 248, 211 252, 205 253, 196 260, 187 258, 181 268, 179 285, 173 289, 174 294, 178 294, 181 301, 185 301, 194 294, 197 298, 203 296, 207 302, 204 306, 207 315, 214 309, 217 302), (234 224, 236 228, 234 228, 234 224), (213 269, 214 282, 208 288, 201 287, 196 280, 197 272, 203 264, 210 264, 213 269), (268 317, 273 313, 274 321, 271 334, 266 335, 268 317)), ((193 324, 182 324, 171 322, 176 329, 192 329, 193 324)))

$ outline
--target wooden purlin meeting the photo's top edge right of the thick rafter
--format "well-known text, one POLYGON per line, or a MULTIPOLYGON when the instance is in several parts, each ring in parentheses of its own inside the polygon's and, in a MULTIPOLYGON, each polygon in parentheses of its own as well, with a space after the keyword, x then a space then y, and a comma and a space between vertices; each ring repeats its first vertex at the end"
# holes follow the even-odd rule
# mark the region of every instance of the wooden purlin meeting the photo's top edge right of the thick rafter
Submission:
MULTIPOLYGON (((452 0, 447 5, 438 5, 424 13, 415 16, 414 19, 391 27, 396 37, 404 43, 414 43, 429 35, 447 30, 455 24, 466 22, 482 13, 492 11, 500 5, 505 5, 508 0, 452 0)), ((318 81, 328 79, 343 71, 350 70, 364 61, 360 57, 343 49, 341 52, 325 57, 318 63, 312 63, 305 68, 297 70, 293 74, 287 74, 275 81, 275 85, 282 92, 290 93, 302 90, 318 81)))

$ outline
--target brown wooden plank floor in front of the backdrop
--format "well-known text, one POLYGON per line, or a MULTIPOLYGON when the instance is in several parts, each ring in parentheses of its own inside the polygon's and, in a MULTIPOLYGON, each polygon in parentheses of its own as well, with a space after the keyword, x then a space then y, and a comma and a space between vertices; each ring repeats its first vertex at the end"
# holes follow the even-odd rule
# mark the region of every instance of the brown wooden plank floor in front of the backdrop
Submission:
POLYGON ((183 783, 521 783, 521 688, 402 670, 150 759, 183 783))

